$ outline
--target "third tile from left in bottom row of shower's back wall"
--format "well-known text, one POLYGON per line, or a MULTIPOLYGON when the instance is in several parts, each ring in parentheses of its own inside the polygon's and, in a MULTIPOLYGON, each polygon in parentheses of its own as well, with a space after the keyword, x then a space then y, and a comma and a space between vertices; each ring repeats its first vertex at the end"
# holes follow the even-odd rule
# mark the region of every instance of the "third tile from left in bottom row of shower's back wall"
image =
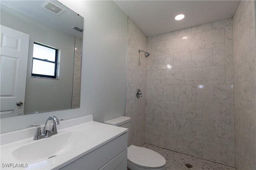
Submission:
POLYGON ((182 137, 182 153, 196 156, 198 158, 203 157, 203 141, 201 139, 195 139, 192 137, 182 137))

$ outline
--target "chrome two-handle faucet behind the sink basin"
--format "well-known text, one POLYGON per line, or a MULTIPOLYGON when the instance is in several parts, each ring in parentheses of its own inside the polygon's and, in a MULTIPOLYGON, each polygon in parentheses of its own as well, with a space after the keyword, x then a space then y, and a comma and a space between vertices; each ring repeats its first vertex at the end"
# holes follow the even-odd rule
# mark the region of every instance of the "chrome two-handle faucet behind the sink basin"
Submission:
POLYGON ((63 119, 59 120, 56 116, 48 117, 44 125, 43 133, 41 133, 40 125, 29 125, 27 127, 37 127, 33 140, 39 140, 39 139, 51 137, 52 135, 56 135, 58 133, 56 125, 60 124, 59 121, 61 120, 63 119), (52 129, 50 129, 50 126, 52 123, 53 123, 52 129))

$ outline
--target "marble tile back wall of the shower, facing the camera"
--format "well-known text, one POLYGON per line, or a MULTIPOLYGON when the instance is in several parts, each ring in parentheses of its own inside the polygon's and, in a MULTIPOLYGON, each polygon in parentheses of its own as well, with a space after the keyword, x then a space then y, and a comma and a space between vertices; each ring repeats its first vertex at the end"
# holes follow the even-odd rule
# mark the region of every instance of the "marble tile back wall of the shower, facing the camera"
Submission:
POLYGON ((232 18, 148 37, 148 51, 146 143, 235 167, 232 18))

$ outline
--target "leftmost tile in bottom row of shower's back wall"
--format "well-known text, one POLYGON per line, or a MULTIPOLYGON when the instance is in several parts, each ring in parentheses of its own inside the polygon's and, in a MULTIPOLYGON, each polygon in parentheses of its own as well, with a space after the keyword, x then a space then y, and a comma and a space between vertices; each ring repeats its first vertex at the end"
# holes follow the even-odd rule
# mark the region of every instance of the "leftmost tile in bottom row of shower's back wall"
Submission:
POLYGON ((150 130, 149 143, 164 148, 164 132, 150 130))

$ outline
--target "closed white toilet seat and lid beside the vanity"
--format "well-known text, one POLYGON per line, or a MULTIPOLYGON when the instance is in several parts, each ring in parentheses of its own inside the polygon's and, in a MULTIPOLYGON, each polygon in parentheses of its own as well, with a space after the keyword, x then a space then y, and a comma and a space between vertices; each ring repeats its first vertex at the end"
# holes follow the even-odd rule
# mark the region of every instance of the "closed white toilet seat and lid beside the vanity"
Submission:
POLYGON ((166 165, 165 158, 157 152, 131 145, 128 147, 128 162, 146 169, 163 168, 166 165))

